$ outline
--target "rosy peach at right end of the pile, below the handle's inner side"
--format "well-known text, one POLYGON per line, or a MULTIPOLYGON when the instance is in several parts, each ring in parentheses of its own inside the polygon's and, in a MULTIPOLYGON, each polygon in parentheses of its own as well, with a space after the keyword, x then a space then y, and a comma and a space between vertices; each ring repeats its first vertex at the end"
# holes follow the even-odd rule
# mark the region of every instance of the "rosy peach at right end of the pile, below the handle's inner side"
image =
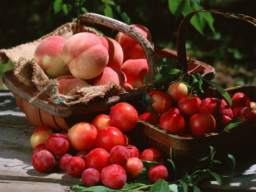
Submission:
POLYGON ((144 76, 148 72, 146 59, 129 59, 123 62, 121 70, 127 77, 127 83, 138 88, 144 85, 144 76))

